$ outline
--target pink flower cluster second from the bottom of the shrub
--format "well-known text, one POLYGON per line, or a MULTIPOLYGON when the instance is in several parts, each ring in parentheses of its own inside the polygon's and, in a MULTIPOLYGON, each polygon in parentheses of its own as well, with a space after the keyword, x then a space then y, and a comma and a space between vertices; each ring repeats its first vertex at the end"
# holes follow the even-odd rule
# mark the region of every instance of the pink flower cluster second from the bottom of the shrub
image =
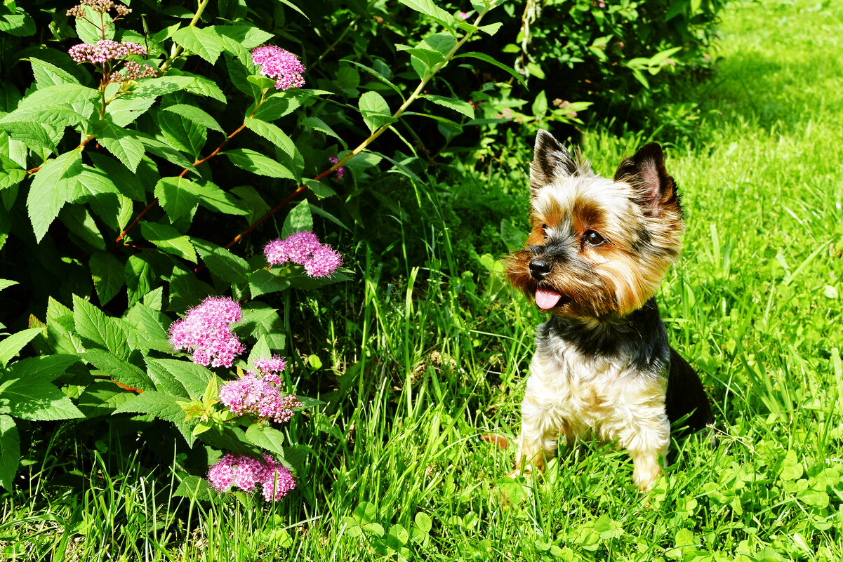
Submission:
POLYGON ((293 396, 284 396, 279 388, 271 381, 281 379, 277 377, 260 376, 250 371, 237 380, 225 383, 219 389, 219 401, 227 406, 234 415, 254 414, 261 418, 269 418, 278 423, 289 421, 293 417, 293 408, 300 408, 302 403, 293 396))

